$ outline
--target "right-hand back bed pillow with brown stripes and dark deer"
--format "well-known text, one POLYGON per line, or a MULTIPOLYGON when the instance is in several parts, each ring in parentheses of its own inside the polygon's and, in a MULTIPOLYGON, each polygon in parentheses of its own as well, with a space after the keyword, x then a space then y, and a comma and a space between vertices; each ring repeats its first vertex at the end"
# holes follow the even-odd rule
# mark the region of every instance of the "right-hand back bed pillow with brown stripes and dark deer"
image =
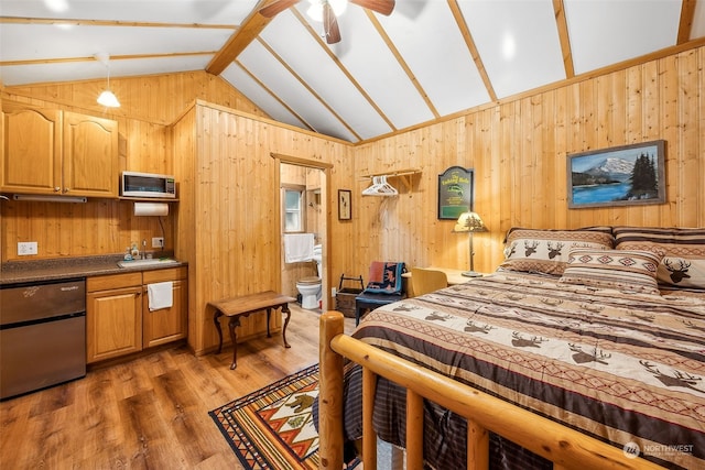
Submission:
POLYGON ((671 287, 705 289, 705 228, 615 227, 619 250, 665 253, 657 281, 671 287))

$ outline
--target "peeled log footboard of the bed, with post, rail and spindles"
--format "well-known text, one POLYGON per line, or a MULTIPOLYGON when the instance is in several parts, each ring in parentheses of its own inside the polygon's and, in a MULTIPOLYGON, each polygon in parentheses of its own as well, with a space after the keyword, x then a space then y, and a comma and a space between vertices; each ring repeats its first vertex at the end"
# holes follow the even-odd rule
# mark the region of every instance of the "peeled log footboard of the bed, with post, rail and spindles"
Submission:
POLYGON ((372 429, 375 378, 384 376, 406 389, 406 468, 423 469, 423 400, 467 419, 467 469, 487 469, 489 431, 538 453, 564 469, 662 469, 642 458, 627 458, 621 449, 511 405, 440 373, 344 335, 344 316, 327 311, 319 330, 319 456, 322 469, 343 468, 343 363, 362 365, 362 463, 377 468, 377 437, 372 429), (517 423, 523 423, 517 426, 517 423))

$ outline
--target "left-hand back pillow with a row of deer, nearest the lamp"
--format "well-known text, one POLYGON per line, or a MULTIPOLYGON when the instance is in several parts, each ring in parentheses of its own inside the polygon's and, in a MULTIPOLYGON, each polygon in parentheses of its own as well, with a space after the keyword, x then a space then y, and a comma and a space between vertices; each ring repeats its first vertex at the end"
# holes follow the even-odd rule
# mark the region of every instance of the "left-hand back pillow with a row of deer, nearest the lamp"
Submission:
POLYGON ((611 249, 609 227, 577 230, 532 230, 514 228, 507 234, 501 269, 561 275, 575 248, 611 249))

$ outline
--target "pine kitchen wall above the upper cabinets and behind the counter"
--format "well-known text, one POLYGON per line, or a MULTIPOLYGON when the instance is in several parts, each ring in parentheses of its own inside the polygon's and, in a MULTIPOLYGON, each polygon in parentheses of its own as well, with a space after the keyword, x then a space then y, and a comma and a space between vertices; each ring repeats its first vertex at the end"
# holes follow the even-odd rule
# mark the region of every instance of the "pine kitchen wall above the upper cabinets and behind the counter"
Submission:
MULTIPOLYGON (((96 97, 104 80, 48 84, 2 89, 2 100, 29 106, 62 109, 118 121, 120 171, 173 174, 171 130, 167 124, 194 101, 237 107, 264 116, 251 101, 219 77, 205 72, 169 74, 110 81, 121 107, 104 108, 96 97)), ((4 201, 1 206, 1 260, 25 261, 17 255, 17 243, 36 241, 37 256, 53 259, 91 254, 122 253, 132 242, 162 237, 155 217, 133 217, 132 203, 89 200, 82 205, 4 201)), ((173 216, 162 218, 165 248, 174 249, 173 216)))

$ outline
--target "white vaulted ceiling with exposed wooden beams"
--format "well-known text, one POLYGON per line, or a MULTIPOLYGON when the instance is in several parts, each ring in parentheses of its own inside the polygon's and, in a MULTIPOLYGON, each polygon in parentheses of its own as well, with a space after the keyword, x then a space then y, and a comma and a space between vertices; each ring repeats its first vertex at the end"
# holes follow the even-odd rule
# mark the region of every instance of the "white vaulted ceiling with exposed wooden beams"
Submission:
POLYGON ((360 142, 705 44, 705 0, 348 4, 336 44, 308 0, 259 12, 279 1, 0 0, 0 83, 205 69, 272 119, 360 142))

